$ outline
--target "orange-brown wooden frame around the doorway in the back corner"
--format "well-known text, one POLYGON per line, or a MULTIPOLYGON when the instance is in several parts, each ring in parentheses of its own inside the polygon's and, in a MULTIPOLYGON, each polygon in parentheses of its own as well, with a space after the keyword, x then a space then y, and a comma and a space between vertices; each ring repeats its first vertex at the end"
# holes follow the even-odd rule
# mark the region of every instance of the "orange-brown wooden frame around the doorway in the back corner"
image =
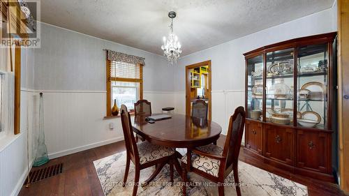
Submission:
POLYGON ((190 116, 191 115, 191 100, 190 100, 190 77, 189 77, 189 70, 191 70, 192 68, 198 68, 198 67, 202 67, 202 66, 208 66, 209 68, 209 91, 207 93, 207 97, 209 98, 209 121, 211 121, 211 114, 212 114, 212 110, 211 110, 211 105, 212 105, 212 96, 211 96, 211 91, 212 91, 212 70, 211 70, 211 60, 208 61, 202 61, 200 63, 194 63, 191 65, 186 66, 186 115, 190 116))

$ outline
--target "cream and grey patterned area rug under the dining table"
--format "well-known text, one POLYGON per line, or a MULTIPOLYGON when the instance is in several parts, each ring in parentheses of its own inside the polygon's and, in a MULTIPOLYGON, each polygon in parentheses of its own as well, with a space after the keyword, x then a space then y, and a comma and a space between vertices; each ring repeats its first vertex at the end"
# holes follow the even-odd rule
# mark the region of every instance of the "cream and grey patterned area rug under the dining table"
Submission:
MULTIPOLYGON (((134 167, 131 162, 126 186, 122 187, 125 165, 126 151, 94 161, 105 196, 132 195, 134 167)), ((142 183, 151 176, 154 170, 155 167, 142 169, 140 182, 142 183)), ((218 195, 216 183, 193 173, 188 174, 188 179, 191 181, 187 188, 188 195, 218 195)), ((239 179, 242 195, 308 195, 306 186, 242 161, 239 161, 239 179)), ((169 182, 170 169, 167 165, 152 183, 144 187, 139 186, 137 195, 181 195, 181 177, 177 172, 174 172, 174 185, 170 186, 169 182)), ((225 179, 225 195, 236 195, 232 173, 225 179)))

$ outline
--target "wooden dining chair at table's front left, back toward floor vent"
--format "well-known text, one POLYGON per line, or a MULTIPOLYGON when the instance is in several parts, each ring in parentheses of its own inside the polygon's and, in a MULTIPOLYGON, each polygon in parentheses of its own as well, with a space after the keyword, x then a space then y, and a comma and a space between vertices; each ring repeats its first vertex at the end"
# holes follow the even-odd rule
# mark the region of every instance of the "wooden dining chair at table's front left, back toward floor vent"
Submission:
POLYGON ((144 182, 144 185, 147 185, 152 181, 166 163, 170 163, 170 180, 173 183, 173 164, 172 160, 174 159, 175 149, 158 146, 151 144, 149 142, 135 142, 135 137, 133 136, 133 127, 131 125, 130 113, 127 111, 125 105, 121 105, 121 124, 122 130, 125 137, 126 145, 126 169, 124 176, 125 186, 128 176, 128 169, 130 169, 130 162, 135 165, 135 183, 133 184, 133 196, 137 195, 138 184, 140 180, 140 170, 147 167, 156 165, 156 170, 147 181, 144 182))

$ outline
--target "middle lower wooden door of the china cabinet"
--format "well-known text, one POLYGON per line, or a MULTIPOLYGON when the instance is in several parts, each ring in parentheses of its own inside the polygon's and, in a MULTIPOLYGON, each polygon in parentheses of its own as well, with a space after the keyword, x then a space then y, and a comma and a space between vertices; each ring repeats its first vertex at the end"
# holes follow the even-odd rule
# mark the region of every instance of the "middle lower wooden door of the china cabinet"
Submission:
POLYGON ((293 165, 294 130, 285 126, 265 125, 265 156, 293 165))

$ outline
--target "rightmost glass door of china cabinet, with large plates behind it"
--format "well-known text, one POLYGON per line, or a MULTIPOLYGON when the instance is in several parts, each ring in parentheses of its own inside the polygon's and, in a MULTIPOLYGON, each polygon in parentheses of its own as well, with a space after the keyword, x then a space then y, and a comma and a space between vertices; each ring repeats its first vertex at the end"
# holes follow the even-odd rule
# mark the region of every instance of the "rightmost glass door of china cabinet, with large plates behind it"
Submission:
POLYGON ((297 126, 326 128, 327 44, 299 47, 297 55, 297 126))

